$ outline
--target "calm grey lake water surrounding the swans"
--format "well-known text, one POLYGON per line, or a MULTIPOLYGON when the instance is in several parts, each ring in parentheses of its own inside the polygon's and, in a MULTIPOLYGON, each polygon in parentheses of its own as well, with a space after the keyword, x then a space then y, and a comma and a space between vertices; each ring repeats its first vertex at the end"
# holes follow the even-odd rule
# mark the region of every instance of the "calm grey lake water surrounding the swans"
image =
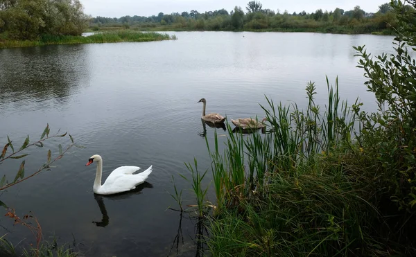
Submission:
MULTIPOLYGON (((186 215, 181 222, 180 213, 167 209, 177 206, 166 191, 173 192, 171 175, 178 189, 191 188, 177 175, 189 175, 184 162, 196 157, 200 170, 210 168, 198 100, 206 98, 207 112, 228 118, 260 117, 265 96, 304 107, 309 81, 324 104, 327 75, 332 85, 338 76, 341 98, 359 97, 363 109, 374 110, 352 46, 365 44, 375 55, 392 51, 392 37, 376 35, 174 34, 177 40, 163 42, 0 49, 1 145, 7 135, 15 148, 28 134, 35 141, 49 123, 51 134, 60 128, 85 147, 0 195, 18 215, 32 211, 46 239, 71 242, 85 256, 195 256, 196 222, 186 215), (103 157, 103 180, 123 165, 144 170, 153 164, 153 173, 131 193, 94 196, 96 166, 85 167, 93 154, 103 157), (183 242, 171 251, 179 224, 183 242)), ((209 141, 213 134, 207 127, 209 141)), ((42 165, 48 149, 58 153, 58 143, 68 141, 28 150, 26 175, 42 165)), ((20 161, 3 162, 0 175, 12 180, 20 161)), ((184 204, 193 204, 184 194, 184 204)), ((8 233, 15 244, 34 243, 12 220, 0 218, 0 225, 0 236, 8 233)))

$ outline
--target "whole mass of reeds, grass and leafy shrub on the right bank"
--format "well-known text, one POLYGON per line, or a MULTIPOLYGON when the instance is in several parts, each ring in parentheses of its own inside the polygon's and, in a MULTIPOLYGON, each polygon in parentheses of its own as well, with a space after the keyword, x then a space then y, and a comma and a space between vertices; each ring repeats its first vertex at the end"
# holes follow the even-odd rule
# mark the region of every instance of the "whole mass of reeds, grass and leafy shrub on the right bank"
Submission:
POLYGON ((228 125, 224 152, 207 140, 216 201, 187 164, 212 256, 415 256, 416 20, 401 1, 392 8, 395 54, 355 48, 377 112, 341 101, 338 80, 317 105, 309 82, 306 109, 261 106, 266 134, 228 125))

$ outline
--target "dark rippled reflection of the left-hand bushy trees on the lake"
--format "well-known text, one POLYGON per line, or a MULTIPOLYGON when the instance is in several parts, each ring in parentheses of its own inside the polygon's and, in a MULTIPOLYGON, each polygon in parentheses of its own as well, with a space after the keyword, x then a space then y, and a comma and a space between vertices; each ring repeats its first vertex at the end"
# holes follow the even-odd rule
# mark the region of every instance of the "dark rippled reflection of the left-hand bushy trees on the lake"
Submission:
POLYGON ((0 51, 0 105, 64 98, 87 85, 87 46, 64 45, 0 51))

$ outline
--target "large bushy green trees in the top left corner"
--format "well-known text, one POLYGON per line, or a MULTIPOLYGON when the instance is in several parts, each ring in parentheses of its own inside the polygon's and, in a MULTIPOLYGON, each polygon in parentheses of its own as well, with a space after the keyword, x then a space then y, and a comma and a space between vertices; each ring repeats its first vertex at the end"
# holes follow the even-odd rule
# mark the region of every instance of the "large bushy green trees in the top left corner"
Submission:
POLYGON ((78 0, 0 0, 0 42, 81 35, 90 18, 78 0))

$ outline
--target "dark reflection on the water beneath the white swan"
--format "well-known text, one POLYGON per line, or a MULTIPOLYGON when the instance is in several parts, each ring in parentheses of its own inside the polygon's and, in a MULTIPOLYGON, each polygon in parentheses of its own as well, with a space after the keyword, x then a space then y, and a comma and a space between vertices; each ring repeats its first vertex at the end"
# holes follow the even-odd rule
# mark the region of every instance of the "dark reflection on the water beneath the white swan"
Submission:
POLYGON ((93 221, 92 223, 96 224, 97 227, 107 227, 108 223, 110 222, 110 217, 107 214, 107 209, 105 209, 104 199, 110 199, 110 200, 122 200, 127 199, 129 197, 132 197, 132 195, 139 195, 141 194, 141 190, 144 188, 153 188, 153 185, 144 181, 144 183, 139 184, 139 186, 136 186, 134 190, 130 190, 125 193, 119 193, 115 195, 97 195, 94 193, 94 199, 97 201, 98 207, 100 208, 101 214, 103 215, 103 218, 100 222, 93 221))

